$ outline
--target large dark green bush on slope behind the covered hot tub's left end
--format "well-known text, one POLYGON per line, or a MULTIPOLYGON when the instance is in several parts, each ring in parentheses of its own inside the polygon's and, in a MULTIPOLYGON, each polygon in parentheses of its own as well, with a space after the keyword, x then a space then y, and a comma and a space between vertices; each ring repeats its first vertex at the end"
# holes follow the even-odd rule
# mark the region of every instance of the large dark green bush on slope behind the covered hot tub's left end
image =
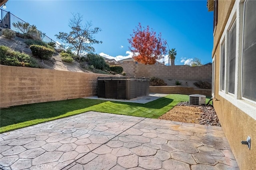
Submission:
POLYGON ((86 62, 90 66, 94 66, 94 68, 99 70, 108 70, 109 65, 105 62, 104 58, 98 54, 87 54, 86 55, 86 62))

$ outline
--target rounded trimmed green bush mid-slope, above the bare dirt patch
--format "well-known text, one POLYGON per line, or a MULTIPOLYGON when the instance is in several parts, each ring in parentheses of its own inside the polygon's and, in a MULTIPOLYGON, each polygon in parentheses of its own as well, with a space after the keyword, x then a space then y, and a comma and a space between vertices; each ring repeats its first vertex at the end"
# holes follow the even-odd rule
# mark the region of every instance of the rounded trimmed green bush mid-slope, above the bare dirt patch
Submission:
POLYGON ((52 57, 54 50, 44 47, 42 45, 31 45, 32 54, 40 59, 48 59, 52 57))

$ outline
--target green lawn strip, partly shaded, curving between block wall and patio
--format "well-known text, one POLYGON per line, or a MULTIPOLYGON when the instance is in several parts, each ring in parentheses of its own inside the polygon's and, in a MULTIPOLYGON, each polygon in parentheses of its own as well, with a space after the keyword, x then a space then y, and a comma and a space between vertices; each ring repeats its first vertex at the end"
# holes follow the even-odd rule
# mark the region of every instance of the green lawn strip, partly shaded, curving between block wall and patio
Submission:
MULTIPOLYGON (((188 101, 188 99, 188 95, 170 94, 146 104, 80 98, 13 106, 0 109, 0 133, 86 111, 158 118, 177 103, 188 101)), ((209 98, 206 102, 208 100, 209 98)))

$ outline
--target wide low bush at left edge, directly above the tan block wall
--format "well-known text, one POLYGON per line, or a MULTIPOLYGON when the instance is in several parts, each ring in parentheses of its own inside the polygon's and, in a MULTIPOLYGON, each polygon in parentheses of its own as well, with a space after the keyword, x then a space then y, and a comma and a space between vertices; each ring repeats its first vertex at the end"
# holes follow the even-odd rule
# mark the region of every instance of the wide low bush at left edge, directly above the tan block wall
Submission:
POLYGON ((27 54, 13 51, 9 47, 0 46, 0 64, 8 66, 26 66, 39 68, 37 61, 27 54))

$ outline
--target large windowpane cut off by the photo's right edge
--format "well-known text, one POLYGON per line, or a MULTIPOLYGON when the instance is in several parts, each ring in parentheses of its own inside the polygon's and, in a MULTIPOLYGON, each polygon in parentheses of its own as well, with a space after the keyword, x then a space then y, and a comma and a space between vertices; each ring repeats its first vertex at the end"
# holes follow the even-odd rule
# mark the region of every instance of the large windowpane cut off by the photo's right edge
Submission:
POLYGON ((244 2, 242 96, 256 102, 256 1, 244 2))

